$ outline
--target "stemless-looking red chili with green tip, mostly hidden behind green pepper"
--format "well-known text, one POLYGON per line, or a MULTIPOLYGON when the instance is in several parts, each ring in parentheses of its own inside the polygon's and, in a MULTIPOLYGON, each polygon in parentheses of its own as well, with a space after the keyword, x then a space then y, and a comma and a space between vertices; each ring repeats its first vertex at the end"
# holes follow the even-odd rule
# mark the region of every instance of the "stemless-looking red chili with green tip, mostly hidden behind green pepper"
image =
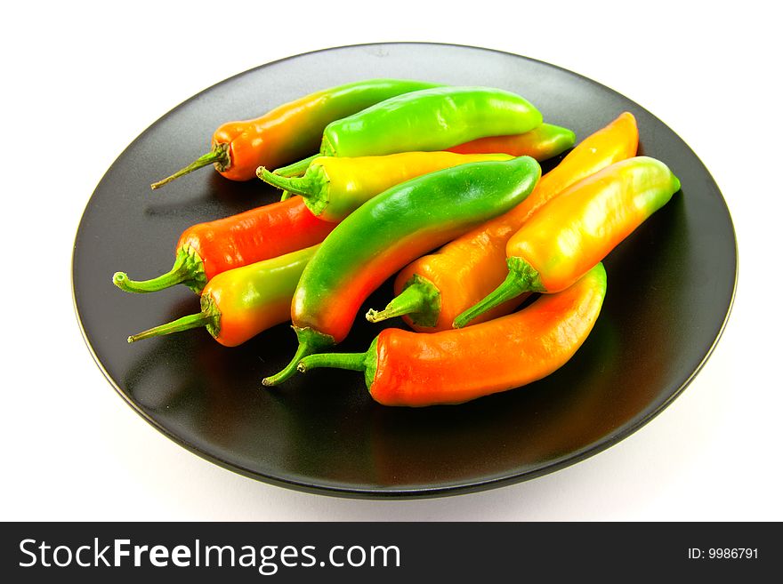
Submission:
POLYGON ((487 136, 447 148, 457 154, 481 154, 502 152, 512 156, 532 156, 538 162, 565 152, 574 145, 577 136, 559 125, 541 124, 523 134, 511 136, 487 136))

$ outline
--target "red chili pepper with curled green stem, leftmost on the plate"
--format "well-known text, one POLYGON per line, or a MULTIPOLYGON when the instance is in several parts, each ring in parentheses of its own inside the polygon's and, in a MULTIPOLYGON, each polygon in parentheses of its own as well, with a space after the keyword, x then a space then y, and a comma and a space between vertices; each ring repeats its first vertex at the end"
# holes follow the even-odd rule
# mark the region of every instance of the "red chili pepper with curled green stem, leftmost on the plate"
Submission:
POLYGON ((125 292, 157 292, 185 284, 198 293, 222 272, 319 244, 333 228, 334 223, 314 217, 296 196, 187 228, 169 272, 141 282, 117 272, 113 282, 125 292))

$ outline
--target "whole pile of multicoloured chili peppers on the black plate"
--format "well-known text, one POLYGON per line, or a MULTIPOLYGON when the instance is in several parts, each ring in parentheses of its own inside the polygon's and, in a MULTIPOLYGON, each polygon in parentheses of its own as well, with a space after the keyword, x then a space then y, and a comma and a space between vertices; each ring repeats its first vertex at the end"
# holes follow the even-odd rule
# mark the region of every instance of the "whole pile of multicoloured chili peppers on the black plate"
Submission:
POLYGON ((636 156, 638 141, 627 112, 575 146, 520 95, 397 79, 223 124, 207 154, 152 188, 213 164, 281 201, 186 229, 162 276, 117 272, 125 292, 200 295, 197 313, 128 341, 205 327, 234 347, 290 321, 298 348, 264 385, 350 369, 387 405, 460 404, 539 380, 593 329, 601 260, 680 189, 665 164, 636 156), (568 150, 541 176, 539 162, 568 150), (396 296, 366 317, 402 316, 412 331, 331 352, 395 275, 396 296))

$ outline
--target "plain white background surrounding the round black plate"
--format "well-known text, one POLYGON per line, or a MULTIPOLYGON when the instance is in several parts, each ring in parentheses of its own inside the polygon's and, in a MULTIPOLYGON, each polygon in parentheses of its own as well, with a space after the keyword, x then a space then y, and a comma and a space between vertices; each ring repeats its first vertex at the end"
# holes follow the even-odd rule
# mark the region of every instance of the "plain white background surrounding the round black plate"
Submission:
POLYGON ((6 4, 0 24, 3 520, 783 519, 779 15, 768 2, 6 4), (714 355, 665 412, 549 476, 438 500, 342 500, 186 452, 117 396, 81 339, 70 255, 103 172, 170 108, 270 60, 433 41, 545 60, 688 142, 737 230, 714 355))

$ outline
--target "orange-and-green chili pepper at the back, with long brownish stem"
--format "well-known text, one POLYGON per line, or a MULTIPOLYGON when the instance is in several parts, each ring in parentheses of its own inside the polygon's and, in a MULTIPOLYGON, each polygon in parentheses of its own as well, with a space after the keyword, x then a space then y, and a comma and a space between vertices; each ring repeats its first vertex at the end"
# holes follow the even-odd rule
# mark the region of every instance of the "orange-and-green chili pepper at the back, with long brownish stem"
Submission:
POLYGON ((152 188, 209 164, 227 179, 253 179, 258 166, 274 168, 316 151, 330 122, 400 93, 437 86, 422 81, 370 79, 311 93, 252 120, 222 124, 213 134, 211 152, 153 183, 152 188))

